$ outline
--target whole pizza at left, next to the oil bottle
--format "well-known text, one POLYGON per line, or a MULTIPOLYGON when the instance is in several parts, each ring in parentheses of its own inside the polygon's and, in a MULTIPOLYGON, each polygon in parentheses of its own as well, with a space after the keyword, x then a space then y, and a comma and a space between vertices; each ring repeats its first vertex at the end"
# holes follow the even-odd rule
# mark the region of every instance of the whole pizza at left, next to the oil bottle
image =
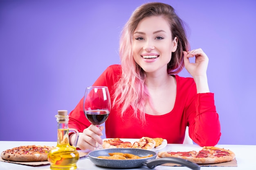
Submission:
POLYGON ((3 151, 1 157, 4 160, 16 162, 47 161, 47 154, 52 148, 54 147, 36 145, 18 146, 3 151))

